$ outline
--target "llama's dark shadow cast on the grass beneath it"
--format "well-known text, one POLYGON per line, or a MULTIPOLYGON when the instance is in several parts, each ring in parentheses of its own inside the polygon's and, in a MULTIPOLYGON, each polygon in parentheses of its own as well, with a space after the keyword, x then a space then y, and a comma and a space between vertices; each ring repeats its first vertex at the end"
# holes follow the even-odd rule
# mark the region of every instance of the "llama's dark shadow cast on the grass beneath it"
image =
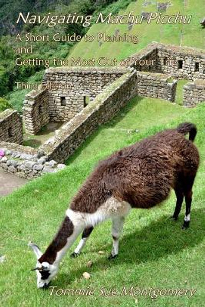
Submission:
MULTIPOLYGON (((105 254, 103 256, 97 254, 97 260, 93 261, 93 266, 89 269, 91 274, 105 270, 105 268, 121 267, 124 262, 131 265, 139 265, 140 263, 153 262, 159 260, 161 257, 167 255, 174 255, 187 248, 193 248, 200 244, 204 239, 204 211, 202 209, 192 211, 192 220, 190 228, 182 230, 183 222, 182 215, 177 222, 172 221, 170 217, 162 216, 157 221, 151 223, 149 226, 143 227, 140 230, 135 230, 129 234, 122 235, 120 240, 119 256, 111 261, 107 259, 112 247, 112 239, 104 248, 105 254)), ((95 231, 98 231, 97 229, 95 231)), ((90 238, 91 239, 91 238, 90 238)), ((72 250, 68 251, 69 253, 72 250)), ((82 253, 80 256, 82 261, 76 269, 71 270, 70 274, 64 274, 63 267, 58 274, 58 278, 52 283, 58 287, 65 288, 75 279, 82 277, 83 272, 88 270, 84 264, 84 254, 90 256, 90 259, 96 257, 98 250, 91 248, 91 250, 82 253), (79 267, 80 266, 80 267, 79 267)), ((87 259, 87 257, 86 257, 87 259)), ((76 259, 67 259, 72 266, 76 259)))

